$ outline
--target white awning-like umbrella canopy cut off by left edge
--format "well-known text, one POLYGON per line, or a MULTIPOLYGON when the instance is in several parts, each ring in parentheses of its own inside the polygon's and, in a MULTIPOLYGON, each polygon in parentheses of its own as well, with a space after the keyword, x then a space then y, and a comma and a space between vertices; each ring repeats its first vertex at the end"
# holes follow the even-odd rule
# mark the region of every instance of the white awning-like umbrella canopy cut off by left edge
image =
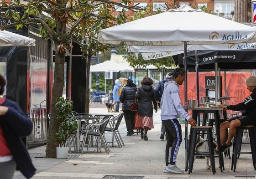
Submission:
POLYGON ((36 40, 9 31, 0 31, 0 46, 35 46, 36 40))

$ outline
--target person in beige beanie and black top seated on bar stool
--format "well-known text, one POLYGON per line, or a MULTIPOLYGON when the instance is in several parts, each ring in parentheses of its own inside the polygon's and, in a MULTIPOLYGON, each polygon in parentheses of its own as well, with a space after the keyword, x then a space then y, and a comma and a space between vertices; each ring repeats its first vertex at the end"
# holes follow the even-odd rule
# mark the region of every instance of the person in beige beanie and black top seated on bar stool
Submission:
MULTIPOLYGON (((246 79, 246 85, 247 89, 252 92, 249 97, 246 97, 243 102, 240 102, 236 105, 230 105, 230 106, 223 106, 220 105, 220 107, 223 108, 223 110, 233 110, 233 111, 242 111, 242 115, 235 116, 234 118, 230 118, 224 123, 220 124, 220 143, 223 143, 220 147, 220 151, 225 152, 228 148, 232 146, 232 138, 235 136, 236 128, 239 126, 246 126, 246 125, 255 125, 256 120, 256 77, 250 76, 246 79), (228 133, 227 141, 225 141, 225 138, 227 136, 227 129, 230 128, 228 133)), ((218 148, 215 148, 215 152, 217 153, 219 151, 218 148)))

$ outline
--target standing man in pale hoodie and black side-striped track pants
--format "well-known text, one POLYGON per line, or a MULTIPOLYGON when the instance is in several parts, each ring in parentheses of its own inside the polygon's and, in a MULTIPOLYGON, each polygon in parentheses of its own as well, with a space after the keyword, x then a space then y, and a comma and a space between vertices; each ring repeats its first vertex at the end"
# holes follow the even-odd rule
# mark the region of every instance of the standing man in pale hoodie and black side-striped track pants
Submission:
POLYGON ((163 169, 164 173, 182 174, 184 172, 176 166, 176 158, 182 142, 182 130, 178 118, 181 116, 190 125, 196 125, 196 121, 185 111, 180 99, 179 85, 182 85, 184 82, 185 74, 183 68, 176 68, 170 74, 172 80, 164 83, 161 99, 161 120, 167 135, 165 148, 166 167, 163 169))

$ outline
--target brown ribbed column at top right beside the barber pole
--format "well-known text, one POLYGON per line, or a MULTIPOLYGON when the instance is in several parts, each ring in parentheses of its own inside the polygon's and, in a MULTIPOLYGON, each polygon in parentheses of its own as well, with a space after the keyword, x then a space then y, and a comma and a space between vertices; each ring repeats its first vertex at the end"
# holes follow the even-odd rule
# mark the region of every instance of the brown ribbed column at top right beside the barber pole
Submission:
POLYGON ((235 21, 247 22, 247 0, 235 0, 235 21))

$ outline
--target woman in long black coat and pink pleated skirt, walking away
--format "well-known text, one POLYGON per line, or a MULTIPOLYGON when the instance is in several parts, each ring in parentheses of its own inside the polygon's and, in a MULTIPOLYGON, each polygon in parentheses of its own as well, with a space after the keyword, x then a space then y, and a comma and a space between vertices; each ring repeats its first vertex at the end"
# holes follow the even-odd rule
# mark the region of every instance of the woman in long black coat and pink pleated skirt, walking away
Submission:
POLYGON ((153 124, 153 106, 157 113, 157 102, 154 99, 154 88, 152 87, 153 80, 150 77, 144 77, 141 81, 141 87, 136 92, 136 98, 138 99, 138 118, 136 120, 136 126, 141 129, 141 138, 148 140, 147 131, 154 128, 153 124))

